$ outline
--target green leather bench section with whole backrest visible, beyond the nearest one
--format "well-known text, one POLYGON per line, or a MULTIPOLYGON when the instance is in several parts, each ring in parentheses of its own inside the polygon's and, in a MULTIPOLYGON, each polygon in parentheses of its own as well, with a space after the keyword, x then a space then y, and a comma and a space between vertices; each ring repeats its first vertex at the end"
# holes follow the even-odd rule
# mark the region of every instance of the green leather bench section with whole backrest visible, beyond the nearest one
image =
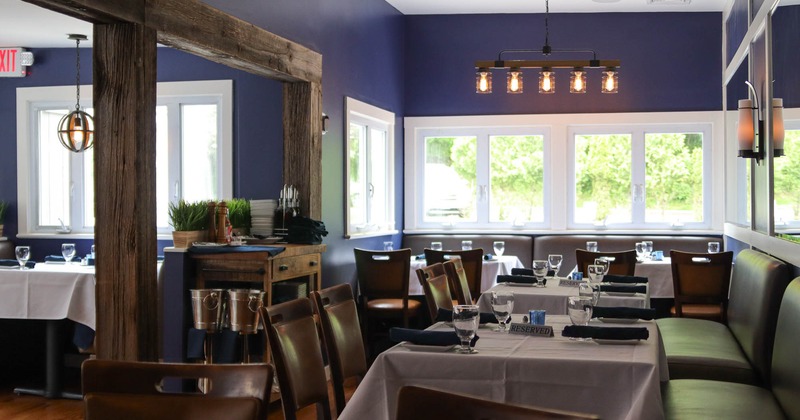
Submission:
POLYGON ((728 325, 657 320, 670 378, 768 384, 778 308, 789 280, 786 264, 746 249, 733 267, 728 325))

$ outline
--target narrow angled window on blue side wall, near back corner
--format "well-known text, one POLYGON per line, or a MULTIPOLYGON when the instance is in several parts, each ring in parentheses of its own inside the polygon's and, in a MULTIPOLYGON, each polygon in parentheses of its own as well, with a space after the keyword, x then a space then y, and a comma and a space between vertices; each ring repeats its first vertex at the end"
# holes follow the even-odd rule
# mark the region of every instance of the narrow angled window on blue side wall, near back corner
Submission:
POLYGON ((346 98, 348 237, 397 232, 394 217, 394 114, 346 98))

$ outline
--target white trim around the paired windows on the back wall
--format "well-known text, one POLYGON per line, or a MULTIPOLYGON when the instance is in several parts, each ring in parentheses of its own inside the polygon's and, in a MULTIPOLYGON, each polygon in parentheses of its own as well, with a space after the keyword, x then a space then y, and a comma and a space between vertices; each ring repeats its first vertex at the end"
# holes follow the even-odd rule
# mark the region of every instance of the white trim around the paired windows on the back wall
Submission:
MULTIPOLYGON (((414 186, 415 174, 422 173, 417 167, 421 162, 414 159, 416 153, 416 139, 419 137, 420 130, 430 130, 435 128, 460 128, 460 127, 548 127, 550 131, 550 177, 546 179, 549 184, 551 194, 549 203, 546 202, 547 213, 550 214, 550 224, 541 229, 500 229, 492 228, 480 230, 487 233, 596 233, 598 229, 570 229, 568 227, 568 209, 570 208, 569 193, 572 188, 568 185, 570 160, 568 150, 568 131, 570 128, 577 128, 584 125, 591 126, 614 126, 614 125, 635 125, 647 124, 670 125, 670 124, 710 124, 710 182, 704 183, 704 188, 710 188, 710 194, 706 199, 711 203, 724 202, 725 190, 725 144, 724 144, 724 114, 722 111, 697 111, 697 112, 652 112, 652 113, 609 113, 609 114, 527 114, 527 115, 470 115, 470 116, 448 116, 448 117, 406 117, 404 119, 405 128, 405 171, 404 171, 404 212, 405 228, 404 233, 437 233, 437 232, 476 232, 476 229, 425 229, 421 228, 416 220, 416 206, 419 205, 418 197, 415 196, 414 186), (563 191, 563 194, 556 192, 563 191)), ((572 184, 574 185, 574 183, 572 184)), ((545 186, 548 188, 548 185, 545 186)), ((690 233, 719 233, 723 229, 724 206, 710 206, 709 226, 703 229, 658 229, 647 227, 653 233, 674 233, 680 231, 684 234, 690 233)), ((604 233, 628 233, 638 232, 641 228, 605 228, 604 233)))

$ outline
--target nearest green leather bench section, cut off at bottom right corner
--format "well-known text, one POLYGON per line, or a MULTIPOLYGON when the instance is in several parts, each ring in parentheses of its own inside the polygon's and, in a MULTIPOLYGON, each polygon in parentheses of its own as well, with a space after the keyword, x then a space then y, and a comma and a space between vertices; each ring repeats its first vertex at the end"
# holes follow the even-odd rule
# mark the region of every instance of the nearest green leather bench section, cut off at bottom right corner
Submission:
POLYGON ((800 419, 800 277, 786 288, 779 311, 769 388, 698 379, 670 380, 662 386, 665 418, 800 419))

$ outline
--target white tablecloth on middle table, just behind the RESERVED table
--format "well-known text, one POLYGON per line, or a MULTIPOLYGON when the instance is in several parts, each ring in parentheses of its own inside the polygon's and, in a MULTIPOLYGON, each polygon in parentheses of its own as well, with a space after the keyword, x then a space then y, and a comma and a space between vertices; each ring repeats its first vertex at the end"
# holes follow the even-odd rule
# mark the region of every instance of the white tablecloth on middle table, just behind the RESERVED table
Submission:
MULTIPOLYGON (((491 290, 506 290, 514 292, 514 309, 512 313, 528 315, 530 309, 544 309, 549 315, 566 315, 567 298, 577 296, 577 287, 559 286, 558 280, 548 278, 547 287, 509 286, 505 283, 498 284, 491 290)), ((488 292, 488 291, 487 291, 488 292)), ((483 293, 478 299, 481 312, 492 312, 491 294, 483 293)), ((626 296, 601 293, 597 301, 598 306, 628 306, 632 308, 649 307, 645 295, 636 293, 626 296)), ((514 322, 517 322, 514 319, 514 322)))

